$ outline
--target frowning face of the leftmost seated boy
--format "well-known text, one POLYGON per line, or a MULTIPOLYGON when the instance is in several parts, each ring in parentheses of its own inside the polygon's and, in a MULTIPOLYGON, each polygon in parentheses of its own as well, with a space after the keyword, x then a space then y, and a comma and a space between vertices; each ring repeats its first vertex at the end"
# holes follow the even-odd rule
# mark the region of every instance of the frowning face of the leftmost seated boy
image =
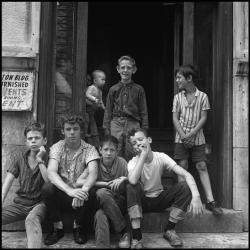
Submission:
POLYGON ((40 131, 29 131, 26 135, 26 146, 34 152, 39 151, 41 146, 46 145, 47 139, 40 131))

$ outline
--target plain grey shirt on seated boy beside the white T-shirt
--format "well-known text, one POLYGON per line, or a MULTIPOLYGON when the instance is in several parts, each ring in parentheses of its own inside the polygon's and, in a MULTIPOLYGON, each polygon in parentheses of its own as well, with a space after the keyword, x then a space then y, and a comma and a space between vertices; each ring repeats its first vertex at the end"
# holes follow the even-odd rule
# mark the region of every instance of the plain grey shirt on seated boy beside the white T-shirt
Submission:
POLYGON ((117 156, 113 162, 111 169, 107 169, 102 161, 100 160, 98 168, 97 181, 112 181, 121 176, 128 176, 127 162, 122 157, 117 156))

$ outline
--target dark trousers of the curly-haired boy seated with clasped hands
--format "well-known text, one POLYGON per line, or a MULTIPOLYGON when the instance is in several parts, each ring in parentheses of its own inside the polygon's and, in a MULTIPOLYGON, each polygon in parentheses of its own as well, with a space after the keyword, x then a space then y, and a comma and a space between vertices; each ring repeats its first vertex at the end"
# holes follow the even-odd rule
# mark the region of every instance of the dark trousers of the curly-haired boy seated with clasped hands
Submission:
POLYGON ((95 213, 95 190, 90 189, 89 199, 84 201, 84 205, 77 209, 73 209, 73 197, 58 189, 51 183, 43 186, 42 197, 48 209, 48 218, 51 222, 62 221, 64 211, 73 212, 76 224, 87 230, 90 225, 91 218, 95 213))

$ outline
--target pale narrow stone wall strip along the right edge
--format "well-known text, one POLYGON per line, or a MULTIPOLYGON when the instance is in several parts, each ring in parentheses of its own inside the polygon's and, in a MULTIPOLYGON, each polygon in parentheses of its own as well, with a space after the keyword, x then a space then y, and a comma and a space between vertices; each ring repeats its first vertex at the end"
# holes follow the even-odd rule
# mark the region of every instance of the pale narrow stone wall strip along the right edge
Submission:
POLYGON ((243 210, 248 231, 249 59, 248 2, 233 3, 233 206, 243 210))

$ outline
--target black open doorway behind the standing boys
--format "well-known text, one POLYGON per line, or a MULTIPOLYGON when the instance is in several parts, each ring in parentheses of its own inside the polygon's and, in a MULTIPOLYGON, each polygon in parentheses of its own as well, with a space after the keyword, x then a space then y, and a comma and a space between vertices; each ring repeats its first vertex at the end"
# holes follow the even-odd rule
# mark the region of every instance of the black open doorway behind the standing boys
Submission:
MULTIPOLYGON (((174 94, 174 8, 162 3, 89 3, 88 73, 107 75, 104 99, 119 81, 117 60, 135 58, 134 81, 145 89, 151 129, 172 131, 174 94)), ((103 114, 97 114, 102 126, 103 114)))

